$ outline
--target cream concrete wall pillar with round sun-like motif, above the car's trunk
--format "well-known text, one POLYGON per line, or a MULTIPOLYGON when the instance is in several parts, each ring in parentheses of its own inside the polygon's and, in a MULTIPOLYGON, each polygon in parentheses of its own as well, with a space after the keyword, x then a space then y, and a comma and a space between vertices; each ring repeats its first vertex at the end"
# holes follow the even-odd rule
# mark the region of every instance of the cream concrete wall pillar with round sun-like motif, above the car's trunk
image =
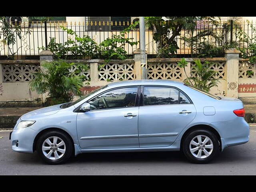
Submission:
POLYGON ((226 61, 226 96, 238 98, 239 54, 236 48, 225 50, 226 61))

